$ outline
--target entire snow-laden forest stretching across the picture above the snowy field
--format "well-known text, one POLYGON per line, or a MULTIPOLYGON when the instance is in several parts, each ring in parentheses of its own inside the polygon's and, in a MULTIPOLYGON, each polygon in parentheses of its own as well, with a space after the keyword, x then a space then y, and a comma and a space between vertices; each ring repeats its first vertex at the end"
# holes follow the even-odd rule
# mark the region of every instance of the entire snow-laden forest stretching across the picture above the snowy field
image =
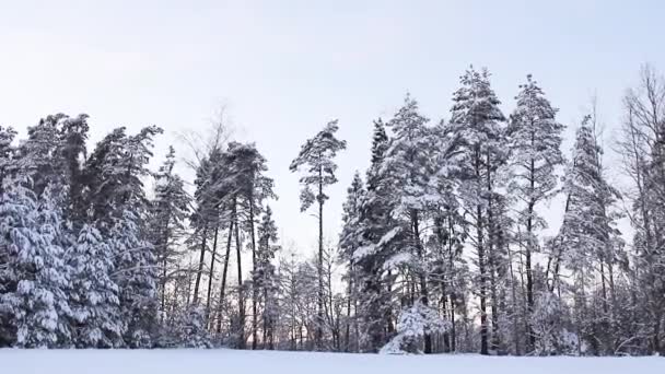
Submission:
POLYGON ((665 354, 665 79, 637 70, 611 141, 593 106, 563 124, 537 77, 514 97, 491 81, 463 72, 441 121, 409 94, 373 124, 323 118, 290 165, 223 122, 156 170, 156 126, 96 144, 94 113, 1 127, 0 347, 665 354), (343 126, 373 128, 371 166, 334 201, 343 126), (268 167, 300 177, 316 247, 283 250, 268 167))

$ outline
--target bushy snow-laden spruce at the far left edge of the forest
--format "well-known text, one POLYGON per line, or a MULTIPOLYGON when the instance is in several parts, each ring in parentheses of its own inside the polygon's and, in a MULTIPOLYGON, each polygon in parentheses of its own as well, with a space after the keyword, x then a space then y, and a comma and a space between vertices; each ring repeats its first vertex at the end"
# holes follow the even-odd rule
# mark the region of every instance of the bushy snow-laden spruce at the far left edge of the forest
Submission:
POLYGON ((0 309, 11 316, 18 347, 68 347, 70 274, 58 243, 61 213, 48 186, 40 198, 31 187, 27 177, 5 180, 0 198, 0 237, 8 258, 0 309))

